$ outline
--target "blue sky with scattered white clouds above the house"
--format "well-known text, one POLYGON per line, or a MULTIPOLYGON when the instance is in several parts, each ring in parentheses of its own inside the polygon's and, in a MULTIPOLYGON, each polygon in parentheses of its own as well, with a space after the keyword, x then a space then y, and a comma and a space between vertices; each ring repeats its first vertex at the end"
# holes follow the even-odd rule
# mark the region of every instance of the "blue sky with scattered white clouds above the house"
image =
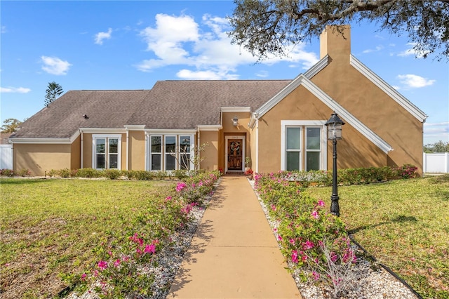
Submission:
MULTIPOLYGON (((158 80, 293 79, 319 58, 319 39, 256 64, 230 44, 232 1, 0 1, 1 124, 63 90, 150 89, 158 80)), ((407 36, 351 25, 351 52, 429 117, 424 144, 449 141, 449 65, 415 58, 407 36)), ((373 112, 375 113, 375 112, 373 112)))

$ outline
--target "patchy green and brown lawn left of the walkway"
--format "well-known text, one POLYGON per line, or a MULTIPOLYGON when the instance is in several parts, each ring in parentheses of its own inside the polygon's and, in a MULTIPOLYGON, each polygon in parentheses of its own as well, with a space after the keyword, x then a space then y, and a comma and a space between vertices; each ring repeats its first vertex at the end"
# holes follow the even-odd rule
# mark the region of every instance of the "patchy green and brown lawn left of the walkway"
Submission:
POLYGON ((168 181, 1 178, 0 187, 1 298, 58 296, 60 274, 95 263, 102 242, 173 192, 168 181))

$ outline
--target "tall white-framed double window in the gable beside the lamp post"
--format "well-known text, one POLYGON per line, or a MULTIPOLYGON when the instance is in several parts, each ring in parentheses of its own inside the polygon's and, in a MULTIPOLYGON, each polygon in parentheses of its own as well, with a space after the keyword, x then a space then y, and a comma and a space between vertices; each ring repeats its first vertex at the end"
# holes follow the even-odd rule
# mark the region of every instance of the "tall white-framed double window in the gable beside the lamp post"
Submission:
POLYGON ((327 168, 325 123, 281 121, 281 170, 312 171, 327 168))

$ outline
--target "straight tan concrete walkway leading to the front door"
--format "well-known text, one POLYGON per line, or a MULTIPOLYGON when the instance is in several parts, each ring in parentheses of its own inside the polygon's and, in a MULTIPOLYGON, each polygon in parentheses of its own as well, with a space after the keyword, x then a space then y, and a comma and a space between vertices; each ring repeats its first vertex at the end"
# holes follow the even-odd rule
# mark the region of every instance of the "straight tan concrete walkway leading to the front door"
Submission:
POLYGON ((243 177, 224 177, 167 298, 302 298, 243 177))

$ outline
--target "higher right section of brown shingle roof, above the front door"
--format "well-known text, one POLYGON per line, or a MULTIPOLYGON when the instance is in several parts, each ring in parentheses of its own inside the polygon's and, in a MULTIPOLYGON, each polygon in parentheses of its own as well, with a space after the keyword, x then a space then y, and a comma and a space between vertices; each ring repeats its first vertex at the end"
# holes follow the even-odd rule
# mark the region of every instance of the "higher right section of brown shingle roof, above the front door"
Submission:
POLYGON ((196 128, 220 124, 220 107, 267 102, 291 80, 158 81, 128 124, 147 128, 196 128))

